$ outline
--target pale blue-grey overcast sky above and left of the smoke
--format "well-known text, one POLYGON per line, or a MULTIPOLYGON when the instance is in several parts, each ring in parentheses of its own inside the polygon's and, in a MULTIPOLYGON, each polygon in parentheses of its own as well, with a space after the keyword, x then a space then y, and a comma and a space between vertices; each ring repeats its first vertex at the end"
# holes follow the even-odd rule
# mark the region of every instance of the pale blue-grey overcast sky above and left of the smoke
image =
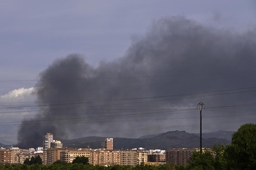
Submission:
MULTIPOLYGON (((97 67, 101 61, 123 57, 152 22, 176 15, 204 26, 244 32, 256 26, 256 1, 1 1, 0 80, 37 79, 55 59, 71 53, 97 67)), ((0 94, 35 83, 0 82, 0 94)), ((0 99, 31 101, 35 96, 0 99)), ((17 127, 8 130, 16 133, 17 127)))

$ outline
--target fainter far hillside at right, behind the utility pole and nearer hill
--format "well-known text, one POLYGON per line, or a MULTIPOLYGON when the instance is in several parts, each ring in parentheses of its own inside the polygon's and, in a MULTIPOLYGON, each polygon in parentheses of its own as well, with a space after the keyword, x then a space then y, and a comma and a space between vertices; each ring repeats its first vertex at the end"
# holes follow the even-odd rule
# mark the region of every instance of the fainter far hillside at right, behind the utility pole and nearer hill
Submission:
MULTIPOLYGON (((234 131, 218 130, 216 132, 202 133, 202 138, 207 139, 207 138, 215 137, 215 138, 227 139, 231 141, 233 133, 234 131)), ((200 137, 200 133, 193 133, 193 134, 200 137)))

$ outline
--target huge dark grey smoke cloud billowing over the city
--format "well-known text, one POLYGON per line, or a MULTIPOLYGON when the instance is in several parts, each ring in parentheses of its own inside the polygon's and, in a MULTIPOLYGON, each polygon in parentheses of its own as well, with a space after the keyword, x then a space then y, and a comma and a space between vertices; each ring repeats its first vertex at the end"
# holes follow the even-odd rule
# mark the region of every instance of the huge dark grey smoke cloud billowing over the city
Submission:
MULTIPOLYGON (((183 94, 189 92, 205 92, 213 90, 225 90, 239 87, 255 86, 255 73, 173 76, 154 78, 120 78, 120 79, 83 79, 83 78, 107 78, 107 77, 134 77, 152 75, 183 75, 198 73, 255 71, 256 39, 255 30, 246 33, 233 33, 228 30, 219 30, 201 25, 184 17, 171 17, 160 19, 153 23, 151 29, 140 40, 133 42, 124 57, 110 63, 100 63, 97 68, 87 64, 83 57, 77 54, 68 55, 58 59, 46 70, 40 73, 42 80, 36 86, 40 87, 39 101, 49 101, 44 104, 57 104, 63 100, 99 100, 122 99, 136 97, 150 97, 158 95, 183 94), (66 80, 65 80, 66 79, 66 80), (81 79, 81 80, 67 80, 81 79), (202 80, 202 81, 200 81, 202 80), (164 83, 164 84, 159 84, 164 83), (148 85, 159 84, 159 85, 148 85), (132 86, 144 85, 144 86, 132 86), (122 87, 132 86, 132 87, 122 87), (107 88, 120 87, 120 88, 107 88), (105 88, 105 89, 99 89, 105 88), (68 91, 77 89, 91 89, 84 91, 68 91), (58 91, 58 92, 54 92, 58 91), (51 92, 51 93, 48 93, 51 92)), ((222 106, 255 102, 255 93, 237 93, 220 96, 208 96, 182 100, 167 100, 159 102, 126 104, 101 107, 84 107, 96 105, 110 105, 116 103, 140 102, 148 100, 113 101, 87 104, 73 104, 67 106, 48 106, 44 109, 84 107, 77 109, 48 110, 40 112, 31 120, 47 120, 58 118, 79 118, 101 115, 131 114, 128 111, 175 108, 195 108, 202 100, 207 106, 222 106), (168 106, 168 107, 167 107, 168 106), (124 111, 127 111, 126 113, 124 111), (118 112, 118 113, 109 113, 118 112), (73 115, 58 115, 72 113, 73 115), (84 113, 77 115, 75 113, 84 113), (105 113, 105 114, 100 114, 105 113)), ((175 98, 175 97, 174 97, 175 98)), ((177 98, 177 97, 176 97, 177 98)), ((163 99, 163 98, 161 98, 163 99)), ((171 99, 171 98, 164 98, 171 99)), ((69 102, 67 102, 69 103, 69 102)), ((225 111, 225 110, 224 110, 225 111)), ((230 115, 229 112, 220 110, 210 112, 207 109, 205 115, 230 115)), ((227 110, 226 110, 227 111, 227 110)), ((230 111, 230 110, 229 110, 230 111)), ((137 112, 138 113, 138 112, 137 112)), ((198 113, 155 115, 126 118, 127 120, 195 117, 198 113)), ((230 120, 251 119, 252 117, 222 117, 204 119, 204 122, 220 122, 230 120)), ((99 118, 100 119, 100 118, 99 118)), ((95 120, 99 120, 95 119, 95 120)), ((93 121, 95 121, 93 120, 93 121)), ((120 120, 111 118, 109 120, 120 120)), ((123 119, 124 120, 124 119, 123 119)), ((70 122, 72 120, 62 121, 70 122)), ((83 119, 86 121, 86 119, 83 119)), ((92 120, 91 120, 92 121, 92 120)), ((99 120, 103 121, 103 120, 99 120)), ((54 121, 51 121, 54 122, 54 121)), ((59 122, 59 121, 55 121, 59 122)), ((73 122, 75 122, 73 120, 73 122)), ((77 120, 76 120, 77 122, 77 120)), ((115 132, 100 134, 71 135, 67 133, 84 131, 102 131, 113 129, 136 129, 172 125, 196 124, 198 119, 180 119, 166 121, 135 121, 135 122, 94 122, 73 124, 39 124, 34 122, 20 126, 19 144, 21 148, 42 146, 42 136, 46 132, 63 134, 55 136, 55 139, 84 137, 90 135, 138 137, 143 134, 159 133, 172 129, 155 129, 148 131, 115 132), (66 134, 66 135, 65 135, 66 134)), ((216 129, 235 130, 235 124, 205 126, 205 131, 216 129)), ((179 129, 179 128, 177 128, 179 129)), ((182 129, 182 128, 180 128, 182 129)), ((184 128, 183 128, 184 129, 184 128)), ((176 130, 176 129, 173 129, 176 130)), ((198 132, 198 127, 189 127, 185 130, 198 132)))

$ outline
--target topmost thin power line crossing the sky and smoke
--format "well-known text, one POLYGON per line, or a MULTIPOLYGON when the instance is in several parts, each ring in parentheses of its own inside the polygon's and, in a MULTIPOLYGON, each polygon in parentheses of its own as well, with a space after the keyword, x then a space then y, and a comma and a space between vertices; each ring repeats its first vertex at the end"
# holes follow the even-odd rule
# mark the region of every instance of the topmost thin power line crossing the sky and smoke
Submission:
POLYGON ((155 75, 155 76, 130 76, 130 77, 102 77, 102 78, 69 78, 69 79, 34 79, 34 80, 0 80, 0 82, 12 81, 67 81, 67 80, 93 80, 93 79, 118 79, 118 78, 154 78, 154 77, 172 77, 172 76, 200 76, 200 75, 216 75, 216 74, 237 74, 237 73, 255 73, 256 71, 239 71, 239 72, 219 72, 219 73, 203 73, 203 74, 172 74, 172 75, 155 75))

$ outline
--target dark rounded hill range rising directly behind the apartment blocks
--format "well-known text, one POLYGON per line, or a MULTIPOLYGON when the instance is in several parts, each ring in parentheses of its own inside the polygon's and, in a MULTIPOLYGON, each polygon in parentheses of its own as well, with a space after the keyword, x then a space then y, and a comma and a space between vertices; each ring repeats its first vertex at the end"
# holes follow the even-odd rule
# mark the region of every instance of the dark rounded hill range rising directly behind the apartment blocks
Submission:
MULTIPOLYGON (((73 148, 100 148, 101 140, 106 137, 83 137, 78 139, 63 140, 64 147, 73 148)), ((214 143, 229 144, 226 139, 208 138, 202 139, 203 147, 211 147, 214 143)), ((151 138, 132 139, 114 138, 114 149, 132 149, 143 147, 146 149, 170 149, 170 148, 196 148, 200 147, 200 138, 185 131, 168 131, 151 138)))

